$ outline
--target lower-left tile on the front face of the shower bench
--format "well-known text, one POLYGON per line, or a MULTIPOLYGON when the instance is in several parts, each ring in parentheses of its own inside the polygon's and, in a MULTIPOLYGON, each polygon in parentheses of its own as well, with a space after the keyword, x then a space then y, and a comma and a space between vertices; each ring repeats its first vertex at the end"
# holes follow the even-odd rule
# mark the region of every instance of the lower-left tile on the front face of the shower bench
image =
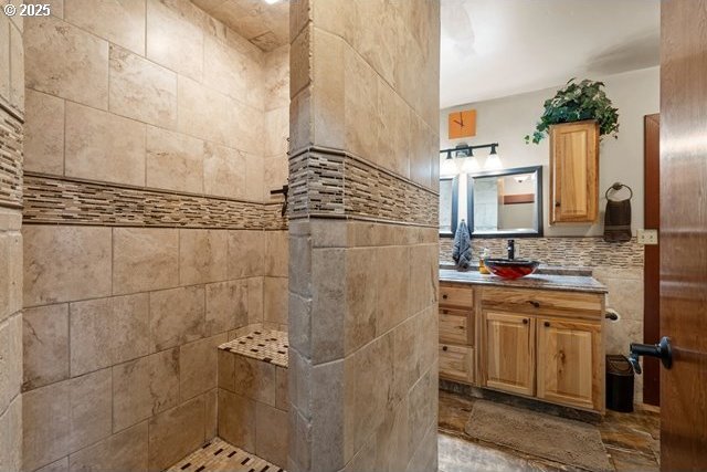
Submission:
POLYGON ((219 438, 246 451, 255 451, 255 401, 219 389, 219 438))

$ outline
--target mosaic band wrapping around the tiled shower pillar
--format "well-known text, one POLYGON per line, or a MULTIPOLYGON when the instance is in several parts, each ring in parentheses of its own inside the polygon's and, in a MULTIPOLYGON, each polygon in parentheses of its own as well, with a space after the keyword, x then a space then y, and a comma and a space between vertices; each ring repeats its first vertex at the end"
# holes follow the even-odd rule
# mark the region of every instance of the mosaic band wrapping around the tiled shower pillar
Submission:
POLYGON ((439 193, 350 154, 309 148, 289 158, 289 217, 439 224, 439 193))

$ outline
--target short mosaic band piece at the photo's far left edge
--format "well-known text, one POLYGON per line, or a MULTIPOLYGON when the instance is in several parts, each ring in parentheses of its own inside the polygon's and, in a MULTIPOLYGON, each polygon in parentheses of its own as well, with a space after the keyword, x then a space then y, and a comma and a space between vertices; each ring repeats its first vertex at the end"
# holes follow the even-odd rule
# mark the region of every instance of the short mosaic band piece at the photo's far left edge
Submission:
POLYGON ((22 120, 0 106, 0 207, 22 208, 22 120))

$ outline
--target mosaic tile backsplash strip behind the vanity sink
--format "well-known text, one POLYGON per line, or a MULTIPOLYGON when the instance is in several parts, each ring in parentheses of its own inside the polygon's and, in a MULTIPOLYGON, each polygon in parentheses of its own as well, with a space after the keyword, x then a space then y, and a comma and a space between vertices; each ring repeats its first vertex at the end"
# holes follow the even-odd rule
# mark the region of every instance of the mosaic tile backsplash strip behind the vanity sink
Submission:
MULTIPOLYGON (((506 239, 472 239, 472 258, 478 259, 484 248, 492 254, 506 254, 506 239)), ((452 261, 451 238, 440 239, 440 261, 452 261)), ((625 243, 609 243, 601 237, 591 238, 523 238, 516 241, 519 258, 535 259, 546 265, 582 268, 643 268, 643 245, 636 239, 625 243)))

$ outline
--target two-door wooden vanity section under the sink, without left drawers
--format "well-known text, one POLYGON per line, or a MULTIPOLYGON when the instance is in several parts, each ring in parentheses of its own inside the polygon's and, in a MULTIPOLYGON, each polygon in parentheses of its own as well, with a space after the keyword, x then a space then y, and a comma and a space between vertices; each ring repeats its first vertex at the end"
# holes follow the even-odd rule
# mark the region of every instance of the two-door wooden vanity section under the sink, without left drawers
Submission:
POLYGON ((603 295, 479 291, 483 387, 603 411, 603 295))

